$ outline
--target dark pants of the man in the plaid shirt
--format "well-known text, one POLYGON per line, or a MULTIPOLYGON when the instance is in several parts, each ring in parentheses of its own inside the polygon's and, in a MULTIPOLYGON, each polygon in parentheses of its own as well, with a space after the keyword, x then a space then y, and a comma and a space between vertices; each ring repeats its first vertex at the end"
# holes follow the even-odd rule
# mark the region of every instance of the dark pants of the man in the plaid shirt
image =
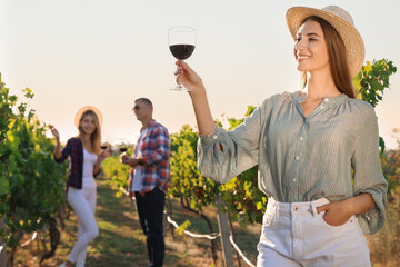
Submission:
POLYGON ((150 267, 161 267, 164 259, 163 207, 166 194, 154 187, 144 196, 134 192, 140 225, 147 236, 150 267))

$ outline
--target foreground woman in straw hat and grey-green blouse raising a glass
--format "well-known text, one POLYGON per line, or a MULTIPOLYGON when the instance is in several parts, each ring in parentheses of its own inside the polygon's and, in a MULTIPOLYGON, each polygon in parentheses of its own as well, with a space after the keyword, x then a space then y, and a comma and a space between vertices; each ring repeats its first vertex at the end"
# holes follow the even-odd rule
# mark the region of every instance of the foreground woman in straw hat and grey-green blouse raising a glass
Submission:
MULTIPOLYGON (((361 36, 339 7, 287 12, 306 92, 266 99, 231 131, 218 128, 201 78, 184 62, 201 172, 227 182, 258 165, 269 197, 258 266, 370 266, 364 234, 384 221, 387 182, 373 108, 354 98, 361 36)), ((177 63, 178 65, 178 63, 177 63)))

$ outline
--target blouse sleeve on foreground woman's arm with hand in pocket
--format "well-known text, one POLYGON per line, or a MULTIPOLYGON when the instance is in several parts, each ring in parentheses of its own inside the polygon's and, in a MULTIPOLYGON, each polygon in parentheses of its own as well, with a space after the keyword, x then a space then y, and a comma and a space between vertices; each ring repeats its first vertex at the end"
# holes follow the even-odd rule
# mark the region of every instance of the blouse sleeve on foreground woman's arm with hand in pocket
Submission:
POLYGON ((373 108, 369 106, 363 110, 360 120, 361 129, 352 157, 354 195, 368 192, 372 196, 372 208, 366 214, 358 215, 362 231, 372 235, 384 224, 388 184, 379 158, 378 122, 373 108))

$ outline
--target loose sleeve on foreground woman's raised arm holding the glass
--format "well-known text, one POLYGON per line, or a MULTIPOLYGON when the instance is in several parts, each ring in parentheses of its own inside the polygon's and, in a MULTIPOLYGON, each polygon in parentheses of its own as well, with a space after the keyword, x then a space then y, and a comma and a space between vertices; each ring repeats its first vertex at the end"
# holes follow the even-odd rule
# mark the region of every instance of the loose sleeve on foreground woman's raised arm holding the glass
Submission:
POLYGON ((198 141, 198 165, 201 174, 218 182, 233 177, 258 164, 261 131, 261 108, 231 131, 217 127, 214 132, 198 141), (222 151, 218 149, 222 146, 222 151))

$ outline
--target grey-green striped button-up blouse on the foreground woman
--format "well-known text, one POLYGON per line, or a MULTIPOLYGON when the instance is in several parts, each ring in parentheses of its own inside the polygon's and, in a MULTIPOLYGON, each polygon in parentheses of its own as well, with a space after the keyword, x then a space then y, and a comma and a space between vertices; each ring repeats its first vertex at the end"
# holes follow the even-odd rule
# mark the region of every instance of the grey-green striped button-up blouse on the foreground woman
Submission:
POLYGON ((236 129, 216 128, 201 137, 202 175, 227 182, 258 165, 260 190, 283 202, 322 197, 337 201, 369 192, 373 207, 358 219, 364 234, 378 231, 384 222, 388 185, 373 108, 341 95, 323 99, 306 118, 302 101, 299 93, 272 96, 236 129))

